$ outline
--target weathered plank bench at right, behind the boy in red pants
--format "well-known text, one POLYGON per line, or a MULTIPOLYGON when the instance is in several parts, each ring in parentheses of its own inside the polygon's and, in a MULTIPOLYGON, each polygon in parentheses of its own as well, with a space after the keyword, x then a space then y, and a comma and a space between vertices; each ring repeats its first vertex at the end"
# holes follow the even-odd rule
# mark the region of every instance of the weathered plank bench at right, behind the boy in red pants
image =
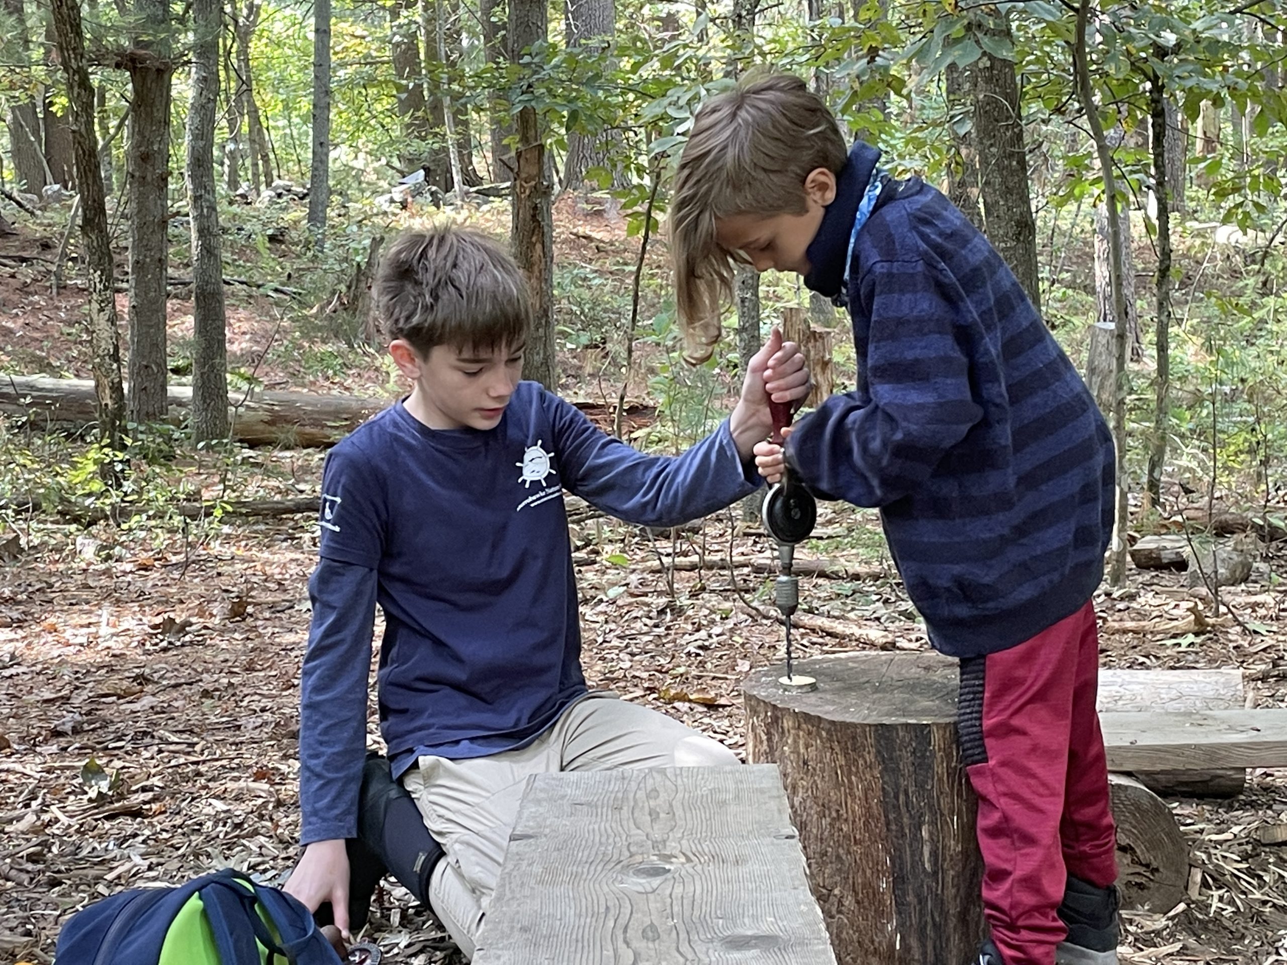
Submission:
POLYGON ((1099 715, 1109 771, 1287 767, 1287 710, 1099 715))

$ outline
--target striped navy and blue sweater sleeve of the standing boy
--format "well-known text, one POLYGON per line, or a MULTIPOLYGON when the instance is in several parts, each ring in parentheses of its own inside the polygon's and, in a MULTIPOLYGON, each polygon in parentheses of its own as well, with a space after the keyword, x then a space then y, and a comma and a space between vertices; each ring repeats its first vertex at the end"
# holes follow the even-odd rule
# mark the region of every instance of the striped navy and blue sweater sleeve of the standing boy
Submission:
POLYGON ((865 385, 803 418, 788 455, 820 494, 880 507, 923 485, 983 409, 950 282, 907 259, 870 265, 856 288, 870 319, 865 385))

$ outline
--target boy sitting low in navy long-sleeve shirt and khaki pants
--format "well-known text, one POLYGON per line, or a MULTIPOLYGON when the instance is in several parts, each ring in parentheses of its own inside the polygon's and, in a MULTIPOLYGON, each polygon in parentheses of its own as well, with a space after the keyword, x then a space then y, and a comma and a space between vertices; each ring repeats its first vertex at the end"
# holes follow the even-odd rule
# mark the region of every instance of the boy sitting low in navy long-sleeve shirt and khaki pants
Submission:
POLYGON ((803 398, 808 373, 775 332, 713 435, 649 457, 520 381, 525 282, 485 237, 403 235, 375 297, 413 387, 340 443, 323 472, 301 681, 306 847, 287 890, 313 910, 331 902, 346 929, 378 603, 393 777, 445 850, 427 898, 472 957, 528 776, 736 763, 664 714, 587 690, 564 490, 650 526, 728 506, 759 482, 750 461, 771 430, 770 394, 803 398))

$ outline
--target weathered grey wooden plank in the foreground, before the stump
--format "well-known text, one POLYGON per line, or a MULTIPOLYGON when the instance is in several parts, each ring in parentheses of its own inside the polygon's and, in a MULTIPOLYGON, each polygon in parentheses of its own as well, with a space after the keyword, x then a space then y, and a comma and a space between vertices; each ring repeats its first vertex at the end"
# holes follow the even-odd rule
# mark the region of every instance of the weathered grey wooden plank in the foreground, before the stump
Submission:
POLYGON ((777 768, 529 780, 474 965, 835 965, 777 768))

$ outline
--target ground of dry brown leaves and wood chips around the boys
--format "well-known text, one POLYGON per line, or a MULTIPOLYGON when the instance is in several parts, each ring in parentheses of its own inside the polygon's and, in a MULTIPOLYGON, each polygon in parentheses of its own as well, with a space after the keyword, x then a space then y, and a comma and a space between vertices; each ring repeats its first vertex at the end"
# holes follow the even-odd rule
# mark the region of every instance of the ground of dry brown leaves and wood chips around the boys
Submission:
MULTIPOLYGON (((828 538, 802 547, 804 558, 867 567, 853 579, 802 580, 802 609, 817 620, 798 627, 802 656, 924 646, 888 561, 871 555, 873 524, 870 515, 828 507, 828 538)), ((67 915, 116 889, 225 865, 269 880, 290 870, 311 530, 308 520, 237 522, 196 547, 178 537, 116 534, 117 552, 86 560, 76 553, 75 528, 49 525, 0 570, 0 701, 8 708, 0 723, 0 960, 49 962, 67 915)), ((592 686, 740 749, 740 682, 781 659, 782 630, 766 593, 770 578, 750 566, 730 573, 727 560, 758 558, 763 537, 727 519, 672 538, 583 513, 574 542, 586 557, 579 588, 592 686), (665 561, 676 557, 723 565, 671 571, 665 561)), ((1147 623, 1192 612, 1178 578, 1167 579, 1148 574, 1103 600, 1106 618, 1147 623)), ((1261 704, 1287 705, 1278 594, 1248 584, 1228 591, 1227 602, 1268 632, 1215 625, 1171 639, 1113 634, 1106 663, 1241 666, 1261 704)), ((1287 960, 1287 852, 1259 838, 1259 829, 1287 821, 1284 785, 1282 772, 1263 772, 1237 800, 1175 805, 1201 876, 1183 908, 1127 920, 1125 961, 1287 960)), ((400 889, 382 893, 368 937, 391 962, 456 961, 400 889)))

